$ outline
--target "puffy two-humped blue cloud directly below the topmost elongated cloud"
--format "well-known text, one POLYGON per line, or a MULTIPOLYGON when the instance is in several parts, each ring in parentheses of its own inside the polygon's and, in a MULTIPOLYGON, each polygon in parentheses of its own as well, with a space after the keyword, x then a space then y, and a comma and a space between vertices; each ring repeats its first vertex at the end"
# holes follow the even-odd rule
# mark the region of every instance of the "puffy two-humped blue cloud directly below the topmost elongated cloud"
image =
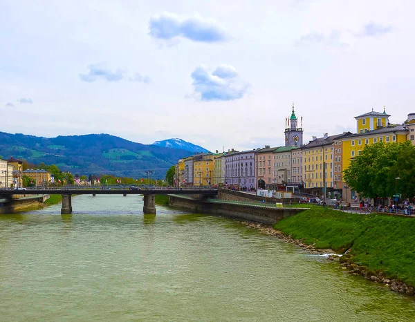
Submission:
POLYGON ((192 73, 194 91, 202 101, 237 100, 246 93, 247 84, 238 82, 234 67, 221 65, 213 73, 205 66, 198 66, 192 73))

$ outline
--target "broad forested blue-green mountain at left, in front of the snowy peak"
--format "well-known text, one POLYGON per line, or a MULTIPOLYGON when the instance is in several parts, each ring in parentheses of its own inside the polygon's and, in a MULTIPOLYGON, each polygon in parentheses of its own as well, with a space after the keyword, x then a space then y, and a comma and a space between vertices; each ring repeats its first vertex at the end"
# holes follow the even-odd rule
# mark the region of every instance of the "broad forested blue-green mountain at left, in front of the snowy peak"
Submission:
POLYGON ((74 174, 113 174, 142 178, 154 170, 152 178, 162 178, 177 160, 192 155, 185 149, 141 144, 109 134, 69 135, 43 138, 0 132, 0 155, 39 164, 56 164, 74 174))

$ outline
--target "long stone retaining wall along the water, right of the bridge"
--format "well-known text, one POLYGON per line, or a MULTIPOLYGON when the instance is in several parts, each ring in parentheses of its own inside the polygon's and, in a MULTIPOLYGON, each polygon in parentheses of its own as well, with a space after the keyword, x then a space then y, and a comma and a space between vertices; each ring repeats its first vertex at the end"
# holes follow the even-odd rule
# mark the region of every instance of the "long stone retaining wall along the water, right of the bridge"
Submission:
POLYGON ((250 205, 231 205, 210 203, 203 200, 190 200, 178 196, 170 196, 170 205, 200 214, 225 216, 240 220, 261 222, 265 225, 274 225, 275 222, 289 216, 294 216, 304 208, 264 208, 250 205))

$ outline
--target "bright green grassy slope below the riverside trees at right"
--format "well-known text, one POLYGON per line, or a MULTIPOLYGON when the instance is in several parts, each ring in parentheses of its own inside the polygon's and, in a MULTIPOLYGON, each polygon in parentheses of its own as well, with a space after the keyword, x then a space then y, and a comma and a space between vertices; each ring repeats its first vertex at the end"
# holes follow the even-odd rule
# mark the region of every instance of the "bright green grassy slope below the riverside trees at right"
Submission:
POLYGON ((317 248, 350 248, 354 263, 415 286, 415 218, 320 208, 281 220, 275 229, 317 248))

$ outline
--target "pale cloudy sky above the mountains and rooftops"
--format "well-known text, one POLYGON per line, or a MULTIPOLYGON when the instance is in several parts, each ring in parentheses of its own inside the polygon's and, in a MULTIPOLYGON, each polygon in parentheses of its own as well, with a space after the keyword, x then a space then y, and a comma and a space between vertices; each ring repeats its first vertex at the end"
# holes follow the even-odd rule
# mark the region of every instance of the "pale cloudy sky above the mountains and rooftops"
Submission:
POLYGON ((415 113, 414 1, 0 1, 0 131, 210 151, 415 113), (300 122, 299 122, 300 123, 300 122))

